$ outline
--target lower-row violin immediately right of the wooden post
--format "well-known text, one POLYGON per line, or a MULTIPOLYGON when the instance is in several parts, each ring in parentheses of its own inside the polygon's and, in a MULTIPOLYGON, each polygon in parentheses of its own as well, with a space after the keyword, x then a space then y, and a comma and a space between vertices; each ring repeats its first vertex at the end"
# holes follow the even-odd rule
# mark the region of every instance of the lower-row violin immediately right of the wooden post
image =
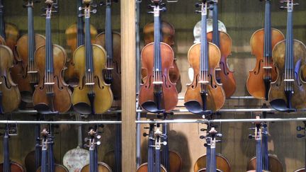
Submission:
MULTIPOLYGON (((144 136, 149 136, 148 139, 148 156, 147 163, 142 164, 137 168, 137 172, 155 172, 159 170, 159 172, 166 172, 166 168, 160 162, 160 142, 159 140, 154 139, 154 124, 149 125, 149 134, 144 133, 144 136), (155 150, 155 158, 154 158, 154 147, 156 149, 157 143, 159 143, 157 150, 155 150), (156 168, 156 167, 160 168, 156 168)), ((160 132, 158 132, 160 134, 160 132)))

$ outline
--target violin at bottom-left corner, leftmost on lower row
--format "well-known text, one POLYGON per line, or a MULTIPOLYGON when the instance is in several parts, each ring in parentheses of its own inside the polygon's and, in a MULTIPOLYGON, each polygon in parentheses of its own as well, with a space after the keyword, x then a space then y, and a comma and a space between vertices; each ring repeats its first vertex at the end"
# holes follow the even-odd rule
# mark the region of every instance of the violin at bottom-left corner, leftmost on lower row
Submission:
POLYGON ((11 161, 9 157, 9 137, 10 134, 8 133, 10 130, 9 125, 6 125, 6 130, 4 131, 4 162, 0 164, 0 172, 25 172, 23 166, 18 164, 14 161, 11 161))

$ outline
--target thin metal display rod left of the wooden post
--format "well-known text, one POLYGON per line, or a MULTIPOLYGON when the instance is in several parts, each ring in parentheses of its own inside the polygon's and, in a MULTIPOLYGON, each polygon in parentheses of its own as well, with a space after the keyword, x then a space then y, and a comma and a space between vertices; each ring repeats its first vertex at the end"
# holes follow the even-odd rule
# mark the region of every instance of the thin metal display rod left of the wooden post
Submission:
POLYGON ((86 124, 122 124, 122 122, 121 121, 111 121, 111 120, 91 120, 91 121, 0 120, 0 124, 71 124, 71 125, 86 125, 86 124))

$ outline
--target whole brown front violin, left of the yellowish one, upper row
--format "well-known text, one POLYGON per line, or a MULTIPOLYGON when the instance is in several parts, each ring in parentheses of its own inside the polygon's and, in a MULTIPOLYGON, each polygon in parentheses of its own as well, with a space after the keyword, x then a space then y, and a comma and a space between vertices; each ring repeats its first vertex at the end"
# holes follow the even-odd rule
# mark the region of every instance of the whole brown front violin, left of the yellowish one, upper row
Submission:
POLYGON ((46 0, 46 40, 35 51, 35 65, 39 82, 33 93, 35 110, 43 114, 65 113, 71 107, 71 91, 63 80, 63 70, 67 54, 59 45, 52 45, 51 15, 57 8, 57 2, 46 0))

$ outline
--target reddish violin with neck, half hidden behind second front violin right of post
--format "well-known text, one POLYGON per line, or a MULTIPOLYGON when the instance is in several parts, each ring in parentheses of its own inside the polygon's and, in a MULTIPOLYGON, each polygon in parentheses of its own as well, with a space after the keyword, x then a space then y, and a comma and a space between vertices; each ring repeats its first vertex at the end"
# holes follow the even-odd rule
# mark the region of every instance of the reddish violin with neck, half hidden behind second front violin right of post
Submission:
POLYGON ((212 8, 212 32, 208 33, 207 38, 220 49, 220 68, 215 70, 215 77, 217 82, 222 84, 226 98, 229 98, 236 91, 234 71, 230 70, 227 64, 227 57, 231 55, 232 39, 227 33, 219 30, 217 0, 212 1, 212 8))

